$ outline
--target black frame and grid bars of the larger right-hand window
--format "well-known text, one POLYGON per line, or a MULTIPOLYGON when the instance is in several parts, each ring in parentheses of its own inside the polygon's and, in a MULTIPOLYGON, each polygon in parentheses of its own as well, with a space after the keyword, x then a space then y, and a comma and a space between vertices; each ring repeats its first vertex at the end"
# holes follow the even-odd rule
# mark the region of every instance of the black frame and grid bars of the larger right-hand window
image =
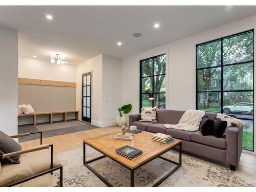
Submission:
MULTIPOLYGON (((240 32, 240 33, 228 35, 228 36, 225 36, 225 37, 221 37, 221 38, 218 38, 218 39, 210 40, 210 41, 203 42, 201 44, 197 44, 196 45, 196 109, 197 110, 198 110, 198 94, 199 93, 207 93, 207 92, 221 93, 221 111, 220 112, 213 112, 213 113, 223 113, 223 94, 225 92, 252 92, 253 114, 254 114, 254 29, 250 29, 250 30, 243 31, 243 32, 240 32), (252 36, 252 38, 253 38, 252 39, 252 41, 253 41, 253 60, 243 61, 243 62, 236 62, 236 63, 229 63, 229 64, 226 64, 226 65, 223 65, 223 40, 226 39, 226 38, 230 38, 230 37, 234 37, 234 36, 239 36, 239 35, 250 33, 250 32, 253 33, 253 36, 252 36), (211 42, 215 42, 215 41, 221 41, 221 65, 205 67, 205 68, 198 68, 198 47, 202 46, 202 45, 209 44, 211 42), (230 91, 223 91, 223 67, 241 65, 241 64, 245 64, 245 63, 252 63, 252 70, 253 70, 252 90, 230 90, 230 91), (198 91, 198 71, 199 70, 204 70, 204 69, 213 69, 213 68, 218 68, 218 67, 221 68, 221 90, 220 91, 198 91)), ((252 123, 253 123, 252 150, 250 148, 245 148, 245 147, 243 147, 243 149, 251 151, 251 152, 254 152, 254 115, 252 115, 252 119, 249 119, 249 118, 238 118, 238 119, 252 120, 252 123)))

